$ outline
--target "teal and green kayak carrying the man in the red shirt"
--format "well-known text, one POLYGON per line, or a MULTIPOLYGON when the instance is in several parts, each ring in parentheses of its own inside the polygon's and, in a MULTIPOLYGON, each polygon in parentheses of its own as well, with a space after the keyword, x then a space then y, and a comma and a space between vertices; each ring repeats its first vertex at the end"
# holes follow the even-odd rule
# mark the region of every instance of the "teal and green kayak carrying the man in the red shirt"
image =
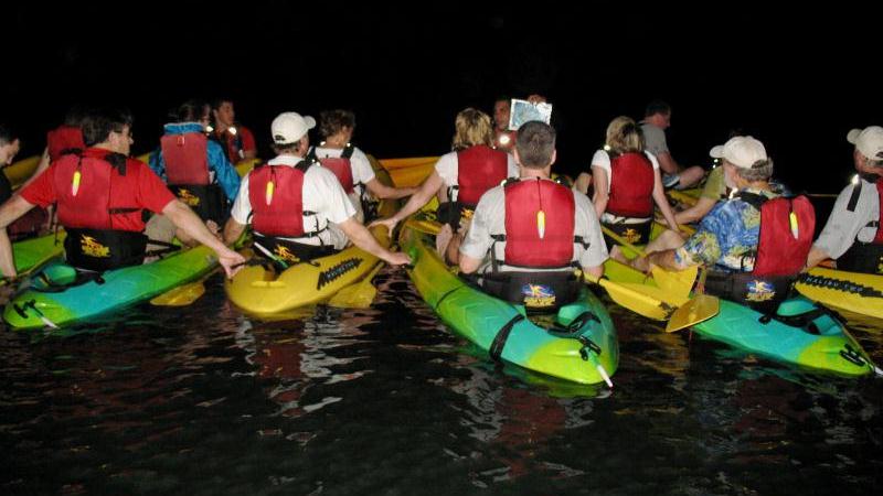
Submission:
POLYGON ((3 320, 15 330, 83 322, 164 293, 216 266, 214 251, 198 246, 151 263, 109 270, 98 280, 60 289, 58 285, 73 281, 75 271, 63 262, 52 262, 35 272, 31 287, 7 304, 3 320))

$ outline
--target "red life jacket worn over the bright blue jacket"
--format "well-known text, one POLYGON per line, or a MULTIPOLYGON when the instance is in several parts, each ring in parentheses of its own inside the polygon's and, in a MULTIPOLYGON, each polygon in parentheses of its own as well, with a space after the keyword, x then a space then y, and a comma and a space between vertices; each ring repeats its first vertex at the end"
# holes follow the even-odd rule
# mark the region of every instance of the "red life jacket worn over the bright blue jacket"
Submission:
POLYGON ((169 184, 209 184, 209 139, 201 132, 160 138, 169 184))

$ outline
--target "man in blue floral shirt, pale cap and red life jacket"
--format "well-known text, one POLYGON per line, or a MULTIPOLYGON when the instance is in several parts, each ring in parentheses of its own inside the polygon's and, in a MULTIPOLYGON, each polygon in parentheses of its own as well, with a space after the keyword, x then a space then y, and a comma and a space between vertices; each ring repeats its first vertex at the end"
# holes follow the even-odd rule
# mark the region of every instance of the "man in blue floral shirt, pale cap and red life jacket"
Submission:
POLYGON ((642 271, 703 265, 709 268, 709 293, 775 310, 809 252, 812 205, 806 196, 785 198, 770 188, 773 160, 752 137, 732 138, 714 147, 711 157, 723 159, 724 179, 737 193, 712 208, 685 242, 667 230, 647 246, 646 258, 631 265, 642 271))

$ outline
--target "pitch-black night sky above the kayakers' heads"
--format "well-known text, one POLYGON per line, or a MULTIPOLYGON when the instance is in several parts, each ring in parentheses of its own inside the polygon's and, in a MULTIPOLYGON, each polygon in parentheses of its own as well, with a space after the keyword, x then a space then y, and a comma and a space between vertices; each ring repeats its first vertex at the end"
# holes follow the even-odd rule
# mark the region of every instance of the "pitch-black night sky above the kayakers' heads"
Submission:
POLYGON ((42 150, 74 103, 130 108, 141 153, 169 108, 215 96, 234 99, 262 157, 278 112, 337 107, 357 112, 369 153, 435 155, 449 150, 461 108, 540 93, 554 105, 565 172, 587 166, 613 117, 640 117, 661 98, 681 164, 708 164, 708 150, 741 130, 764 141, 777 175, 832 192, 850 175, 847 131, 883 123, 879 23, 830 3, 787 14, 769 3, 225 6, 6 7, 0 118, 21 131, 21 157, 42 150))

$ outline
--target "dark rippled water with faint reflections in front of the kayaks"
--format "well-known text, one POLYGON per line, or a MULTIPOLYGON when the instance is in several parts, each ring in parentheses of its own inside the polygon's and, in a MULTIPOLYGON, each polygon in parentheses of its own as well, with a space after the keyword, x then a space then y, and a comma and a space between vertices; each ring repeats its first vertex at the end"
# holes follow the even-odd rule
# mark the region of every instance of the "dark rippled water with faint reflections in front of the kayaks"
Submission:
MULTIPOLYGON (((876 494, 883 380, 610 306, 616 387, 498 368, 403 272, 370 310, 259 322, 212 280, 71 337, 0 332, 0 494, 876 494)), ((880 326, 854 334, 883 363, 880 326)))

